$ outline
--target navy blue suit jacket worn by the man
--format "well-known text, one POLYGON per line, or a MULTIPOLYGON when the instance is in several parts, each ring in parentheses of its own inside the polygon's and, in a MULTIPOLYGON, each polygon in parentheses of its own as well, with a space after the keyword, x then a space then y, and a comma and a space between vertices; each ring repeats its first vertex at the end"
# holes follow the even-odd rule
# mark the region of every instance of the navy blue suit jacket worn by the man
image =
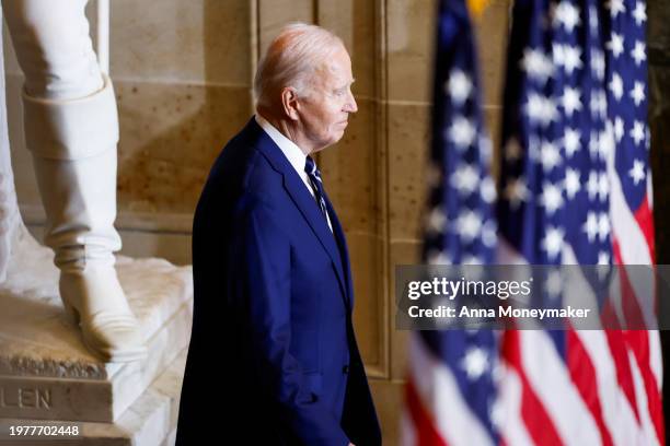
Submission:
POLYGON ((251 119, 194 219, 194 326, 177 444, 380 445, 346 242, 251 119))

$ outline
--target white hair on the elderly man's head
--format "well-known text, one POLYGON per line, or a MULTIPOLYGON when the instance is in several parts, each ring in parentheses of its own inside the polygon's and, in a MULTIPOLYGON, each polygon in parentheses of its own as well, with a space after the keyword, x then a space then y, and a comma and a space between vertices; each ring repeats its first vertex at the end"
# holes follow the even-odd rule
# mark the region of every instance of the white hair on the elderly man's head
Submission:
POLYGON ((308 95, 314 71, 344 47, 339 37, 321 26, 291 23, 282 27, 258 62, 256 105, 269 106, 286 86, 296 89, 298 96, 308 95))

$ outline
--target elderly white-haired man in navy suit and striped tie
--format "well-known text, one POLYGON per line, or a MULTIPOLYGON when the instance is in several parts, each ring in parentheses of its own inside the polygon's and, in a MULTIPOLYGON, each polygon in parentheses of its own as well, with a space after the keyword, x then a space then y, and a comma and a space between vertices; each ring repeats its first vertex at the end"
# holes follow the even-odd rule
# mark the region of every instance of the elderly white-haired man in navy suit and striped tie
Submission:
POLYGON ((216 161, 195 214, 194 328, 177 443, 379 445, 351 325, 344 233, 314 153, 357 111, 351 61, 317 26, 261 60, 257 114, 216 161))

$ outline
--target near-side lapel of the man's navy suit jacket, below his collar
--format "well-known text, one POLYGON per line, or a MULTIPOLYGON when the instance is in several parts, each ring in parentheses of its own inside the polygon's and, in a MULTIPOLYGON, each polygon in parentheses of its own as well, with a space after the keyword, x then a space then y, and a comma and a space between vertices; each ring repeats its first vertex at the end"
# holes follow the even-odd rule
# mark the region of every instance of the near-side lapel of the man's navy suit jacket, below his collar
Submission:
MULTIPOLYGON (((335 237, 333 236, 333 233, 331 233, 325 216, 321 212, 321 209, 319 209, 316 200, 314 200, 314 197, 312 197, 312 195, 309 192, 293 166, 289 163, 284 153, 281 153, 281 149, 279 149, 272 138, 265 133, 254 118, 252 118, 252 122, 250 124, 256 127, 259 134, 256 145, 257 149, 267 157, 273 167, 277 172, 281 173, 284 176, 284 187, 286 191, 291 197, 291 200, 304 220, 307 220, 308 224, 312 228, 312 232, 316 238, 319 238, 319 242, 328 254, 328 257, 331 257, 331 261, 335 268, 337 280, 339 282, 342 293, 345 296, 346 303, 348 287, 347 282, 345 281, 339 249, 335 244, 335 237)), ((334 212, 332 214, 334 215, 334 212)), ((332 219, 334 220, 333 216, 332 219)))

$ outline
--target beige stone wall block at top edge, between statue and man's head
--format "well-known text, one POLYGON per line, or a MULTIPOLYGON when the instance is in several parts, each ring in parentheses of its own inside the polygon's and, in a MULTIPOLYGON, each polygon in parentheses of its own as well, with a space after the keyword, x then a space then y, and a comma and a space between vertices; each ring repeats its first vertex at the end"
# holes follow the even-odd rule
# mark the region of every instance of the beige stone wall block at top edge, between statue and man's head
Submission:
POLYGON ((111 2, 115 80, 250 85, 250 2, 111 2))

